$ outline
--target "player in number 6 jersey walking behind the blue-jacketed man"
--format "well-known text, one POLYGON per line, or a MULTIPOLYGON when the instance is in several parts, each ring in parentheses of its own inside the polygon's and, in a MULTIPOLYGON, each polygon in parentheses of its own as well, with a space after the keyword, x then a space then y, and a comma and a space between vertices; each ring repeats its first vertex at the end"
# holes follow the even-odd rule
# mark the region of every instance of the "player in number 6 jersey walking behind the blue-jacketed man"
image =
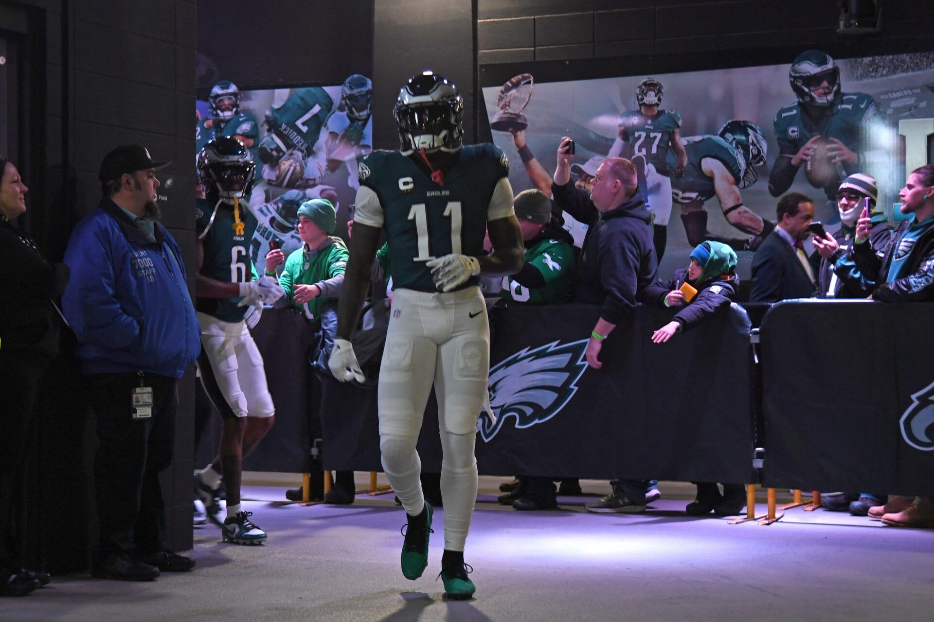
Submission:
MULTIPOLYGON (((198 174, 206 199, 198 200, 198 273, 195 310, 201 323, 202 351, 198 370, 205 393, 223 419, 217 459, 195 476, 195 492, 208 518, 225 542, 259 545, 266 533, 250 521, 240 505, 243 457, 269 432, 276 408, 266 387, 262 355, 249 334, 262 304, 283 291, 275 277, 253 280, 249 245, 256 218, 246 201, 255 166, 247 148, 235 138, 219 137, 198 156, 198 174), (227 493, 227 518, 219 519, 219 484, 227 493)), ((273 270, 285 257, 276 250, 266 257, 273 270)))

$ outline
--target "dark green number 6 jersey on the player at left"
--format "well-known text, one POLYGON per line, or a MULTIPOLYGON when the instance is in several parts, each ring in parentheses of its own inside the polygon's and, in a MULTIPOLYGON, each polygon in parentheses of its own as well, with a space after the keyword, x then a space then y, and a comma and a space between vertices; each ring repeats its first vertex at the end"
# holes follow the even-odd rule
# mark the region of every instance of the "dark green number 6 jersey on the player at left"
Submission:
MULTIPOLYGON (((250 242, 256 231, 256 216, 247 207, 247 201, 239 205, 240 221, 244 224, 243 235, 233 230, 233 205, 221 202, 218 205, 214 222, 215 203, 199 199, 197 202, 197 221, 195 228, 200 238, 204 236, 205 262, 201 274, 221 283, 248 283, 253 280, 253 262, 250 259, 250 242)), ((237 307, 241 297, 235 298, 197 298, 194 308, 202 313, 213 315, 223 322, 240 322, 247 307, 237 307)))

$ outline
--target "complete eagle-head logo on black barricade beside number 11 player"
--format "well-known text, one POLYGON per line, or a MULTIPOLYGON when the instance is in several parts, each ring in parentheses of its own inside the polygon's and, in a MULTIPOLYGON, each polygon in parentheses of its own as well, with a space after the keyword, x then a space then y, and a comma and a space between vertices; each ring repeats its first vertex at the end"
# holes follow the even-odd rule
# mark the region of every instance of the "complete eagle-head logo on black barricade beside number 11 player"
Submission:
POLYGON ((509 417, 518 429, 546 422, 559 413, 577 392, 577 380, 587 369, 587 339, 559 344, 552 341, 524 348, 489 370, 489 406, 480 414, 477 431, 486 442, 509 417))

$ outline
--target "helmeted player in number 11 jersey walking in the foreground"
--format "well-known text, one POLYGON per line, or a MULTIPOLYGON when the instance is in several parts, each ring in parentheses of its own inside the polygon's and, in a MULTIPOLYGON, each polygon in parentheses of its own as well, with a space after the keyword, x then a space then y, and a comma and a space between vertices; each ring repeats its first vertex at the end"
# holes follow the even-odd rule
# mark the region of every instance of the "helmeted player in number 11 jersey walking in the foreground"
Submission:
POLYGON ((522 268, 522 234, 513 214, 509 161, 494 145, 462 145, 463 100, 453 84, 432 72, 411 77, 394 116, 400 150, 374 151, 360 165, 329 364, 337 380, 364 380, 348 339, 385 229, 396 289, 379 372, 379 446, 408 515, 403 575, 417 579, 428 565, 432 507, 419 482, 416 441, 433 383, 444 450, 441 578, 448 597, 470 598, 475 588, 463 548, 476 501, 474 441, 489 375, 487 307, 477 283, 480 275, 522 268), (487 229, 493 252, 485 255, 487 229))

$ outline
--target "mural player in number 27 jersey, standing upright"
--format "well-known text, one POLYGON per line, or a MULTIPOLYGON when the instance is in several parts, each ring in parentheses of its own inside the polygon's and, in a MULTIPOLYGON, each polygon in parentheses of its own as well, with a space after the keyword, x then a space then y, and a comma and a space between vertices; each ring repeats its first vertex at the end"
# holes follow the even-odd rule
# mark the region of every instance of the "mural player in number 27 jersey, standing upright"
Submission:
POLYGON ((687 164, 685 147, 681 144, 681 115, 673 110, 659 110, 662 86, 647 78, 636 89, 638 110, 627 110, 619 116, 619 137, 607 158, 643 156, 645 159, 645 202, 654 214, 653 242, 658 261, 665 254, 668 241, 668 220, 672 217, 672 174, 680 177, 687 164), (669 146, 674 153, 674 165, 669 166, 669 146))

